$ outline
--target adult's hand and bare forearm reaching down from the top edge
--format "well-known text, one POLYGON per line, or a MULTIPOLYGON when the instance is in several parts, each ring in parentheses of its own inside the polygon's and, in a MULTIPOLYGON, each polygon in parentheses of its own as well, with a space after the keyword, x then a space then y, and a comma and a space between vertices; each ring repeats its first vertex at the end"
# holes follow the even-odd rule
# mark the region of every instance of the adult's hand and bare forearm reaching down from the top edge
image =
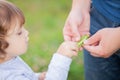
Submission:
POLYGON ((90 0, 73 0, 73 7, 63 28, 65 41, 79 41, 80 36, 89 34, 90 0))

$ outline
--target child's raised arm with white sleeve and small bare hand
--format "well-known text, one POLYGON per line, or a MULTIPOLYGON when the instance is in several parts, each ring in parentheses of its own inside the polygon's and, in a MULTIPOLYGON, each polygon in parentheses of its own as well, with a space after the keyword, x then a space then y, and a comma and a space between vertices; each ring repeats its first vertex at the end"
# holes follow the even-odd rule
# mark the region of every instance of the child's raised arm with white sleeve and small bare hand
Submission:
POLYGON ((67 80, 71 57, 76 56, 77 52, 75 42, 63 42, 52 57, 45 80, 67 80))

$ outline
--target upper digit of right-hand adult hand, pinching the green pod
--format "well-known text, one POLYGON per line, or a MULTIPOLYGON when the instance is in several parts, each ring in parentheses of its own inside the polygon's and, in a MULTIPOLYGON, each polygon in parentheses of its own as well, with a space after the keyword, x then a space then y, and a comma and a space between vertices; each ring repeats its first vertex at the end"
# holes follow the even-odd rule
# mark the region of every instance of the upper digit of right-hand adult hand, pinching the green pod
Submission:
POLYGON ((92 35, 90 38, 84 41, 85 45, 93 45, 95 43, 99 43, 101 40, 100 34, 97 32, 94 35, 92 35))

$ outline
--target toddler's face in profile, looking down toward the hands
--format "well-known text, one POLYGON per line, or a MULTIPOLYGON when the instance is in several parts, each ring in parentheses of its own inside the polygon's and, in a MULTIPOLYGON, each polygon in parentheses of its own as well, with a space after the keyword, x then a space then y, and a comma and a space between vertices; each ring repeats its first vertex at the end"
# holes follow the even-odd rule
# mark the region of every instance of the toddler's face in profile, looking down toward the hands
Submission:
POLYGON ((28 45, 28 31, 24 27, 15 26, 14 30, 7 37, 9 46, 5 49, 7 57, 12 58, 26 52, 28 45))

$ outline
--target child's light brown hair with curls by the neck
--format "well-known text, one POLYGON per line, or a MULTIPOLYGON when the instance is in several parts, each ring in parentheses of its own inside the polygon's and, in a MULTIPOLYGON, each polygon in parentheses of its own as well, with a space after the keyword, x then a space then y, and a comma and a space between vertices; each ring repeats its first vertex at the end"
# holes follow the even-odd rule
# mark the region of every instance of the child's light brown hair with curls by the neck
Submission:
POLYGON ((22 11, 14 4, 0 0, 0 59, 5 57, 5 49, 9 46, 5 41, 5 36, 14 27, 13 24, 16 23, 16 20, 19 22, 20 27, 25 23, 22 11))

